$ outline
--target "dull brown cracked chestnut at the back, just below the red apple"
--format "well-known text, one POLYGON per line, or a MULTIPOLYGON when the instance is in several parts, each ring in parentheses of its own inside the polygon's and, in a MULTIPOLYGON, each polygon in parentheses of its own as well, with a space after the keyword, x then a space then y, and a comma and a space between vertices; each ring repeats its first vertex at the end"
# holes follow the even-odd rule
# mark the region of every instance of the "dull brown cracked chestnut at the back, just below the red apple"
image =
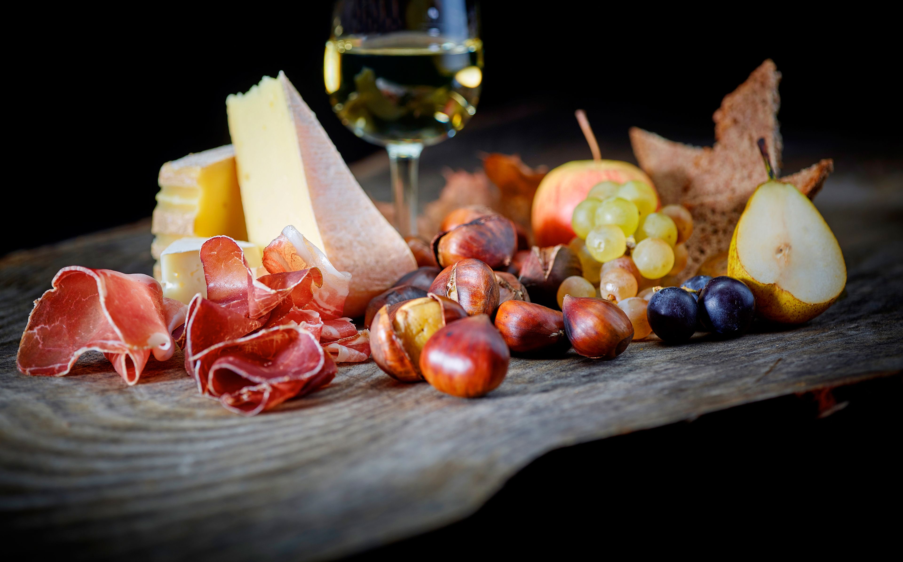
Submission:
POLYGON ((534 246, 520 268, 520 282, 534 303, 557 309, 558 286, 564 279, 581 274, 580 259, 571 248, 563 244, 549 248, 534 246))

